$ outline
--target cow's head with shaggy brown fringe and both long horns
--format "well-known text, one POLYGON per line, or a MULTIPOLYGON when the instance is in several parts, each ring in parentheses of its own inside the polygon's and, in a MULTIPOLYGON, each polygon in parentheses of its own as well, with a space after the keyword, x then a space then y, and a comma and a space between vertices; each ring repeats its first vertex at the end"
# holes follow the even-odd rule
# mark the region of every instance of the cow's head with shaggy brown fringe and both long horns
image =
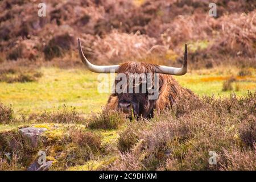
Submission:
POLYGON ((93 65, 84 56, 80 39, 78 39, 78 44, 81 60, 90 71, 96 73, 118 73, 115 79, 115 85, 119 84, 120 89, 119 92, 115 89, 115 93, 112 94, 111 97, 117 100, 116 109, 122 110, 128 117, 131 117, 134 114, 139 117, 142 116, 143 118, 147 118, 152 114, 154 106, 159 98, 158 94, 161 94, 163 89, 166 88, 166 77, 162 74, 184 75, 187 73, 187 45, 185 45, 182 67, 174 68, 138 62, 107 66, 93 65), (123 81, 123 76, 126 76, 125 81, 123 81), (135 81, 136 79, 137 81, 135 81))

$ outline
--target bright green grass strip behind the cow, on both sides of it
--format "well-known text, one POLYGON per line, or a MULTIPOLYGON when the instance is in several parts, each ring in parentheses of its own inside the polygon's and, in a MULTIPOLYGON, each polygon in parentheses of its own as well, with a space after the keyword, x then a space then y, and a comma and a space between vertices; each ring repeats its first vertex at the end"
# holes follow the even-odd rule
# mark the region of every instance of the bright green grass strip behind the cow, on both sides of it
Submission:
MULTIPOLYGON (((43 77, 38 82, 0 82, 0 101, 5 105, 13 105, 15 114, 57 110, 64 104, 89 114, 91 111, 100 111, 108 100, 109 94, 97 92, 97 73, 85 69, 59 68, 41 68, 40 72, 43 73, 43 77)), ((228 77, 236 76, 237 72, 237 69, 233 68, 225 71, 214 69, 194 71, 175 78, 180 85, 191 89, 199 96, 229 96, 231 92, 222 92, 222 83, 228 77)), ((247 90, 255 90, 255 70, 252 72, 252 76, 240 79, 240 91, 235 92, 238 96, 246 94, 247 90)))

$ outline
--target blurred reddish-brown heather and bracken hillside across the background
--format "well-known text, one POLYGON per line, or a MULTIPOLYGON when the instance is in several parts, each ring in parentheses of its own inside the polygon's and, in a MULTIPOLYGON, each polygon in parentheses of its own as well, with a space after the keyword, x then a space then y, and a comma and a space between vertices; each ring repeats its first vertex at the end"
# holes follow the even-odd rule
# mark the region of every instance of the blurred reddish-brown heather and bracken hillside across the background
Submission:
POLYGON ((179 63, 183 56, 181 45, 207 42, 204 50, 191 47, 191 61, 198 64, 193 67, 213 67, 226 56, 232 63, 240 63, 240 57, 240 64, 255 65, 256 4, 218 0, 217 17, 213 18, 208 16, 209 3, 54 0, 48 2, 51 8, 47 16, 37 18, 35 3, 1 1, 0 54, 8 60, 36 62, 41 57, 64 58, 69 56, 66 52, 76 49, 76 35, 84 40, 86 56, 98 64, 141 60, 151 53, 163 59, 156 63, 179 63), (20 14, 24 14, 23 18, 20 14), (170 52, 174 54, 170 56, 170 52), (250 60, 244 61, 245 57, 250 60))

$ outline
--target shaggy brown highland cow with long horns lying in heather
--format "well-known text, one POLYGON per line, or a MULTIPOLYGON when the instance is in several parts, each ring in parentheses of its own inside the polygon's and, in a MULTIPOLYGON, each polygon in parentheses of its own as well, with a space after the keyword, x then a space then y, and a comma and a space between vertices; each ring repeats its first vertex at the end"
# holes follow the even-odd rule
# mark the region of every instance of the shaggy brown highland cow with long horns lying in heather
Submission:
MULTIPOLYGON (((79 52, 82 62, 86 67, 97 73, 110 73, 110 70, 115 73, 123 73, 128 77, 130 73, 151 73, 151 75, 158 74, 158 98, 155 100, 148 99, 149 93, 113 93, 110 95, 107 108, 118 110, 121 109, 131 117, 132 114, 138 117, 148 118, 153 116, 153 111, 161 111, 167 107, 172 107, 184 96, 194 96, 191 90, 182 88, 171 75, 184 75, 187 73, 187 45, 185 45, 184 61, 181 68, 166 67, 148 63, 128 62, 121 65, 98 66, 91 64, 84 53, 82 52, 80 39, 79 52)), ((115 81, 117 84, 118 81, 115 81)), ((154 85, 153 85, 154 86, 154 85)))

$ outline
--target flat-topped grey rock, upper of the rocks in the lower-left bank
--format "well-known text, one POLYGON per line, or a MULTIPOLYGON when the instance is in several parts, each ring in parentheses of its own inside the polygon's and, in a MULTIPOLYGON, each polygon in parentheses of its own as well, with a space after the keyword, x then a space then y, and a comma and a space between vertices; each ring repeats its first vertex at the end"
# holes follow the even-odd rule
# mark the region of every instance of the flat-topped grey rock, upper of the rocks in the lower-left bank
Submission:
POLYGON ((38 146, 38 138, 47 131, 44 127, 26 127, 23 129, 19 129, 19 133, 22 134, 23 137, 27 137, 30 142, 31 146, 36 148, 38 146))

